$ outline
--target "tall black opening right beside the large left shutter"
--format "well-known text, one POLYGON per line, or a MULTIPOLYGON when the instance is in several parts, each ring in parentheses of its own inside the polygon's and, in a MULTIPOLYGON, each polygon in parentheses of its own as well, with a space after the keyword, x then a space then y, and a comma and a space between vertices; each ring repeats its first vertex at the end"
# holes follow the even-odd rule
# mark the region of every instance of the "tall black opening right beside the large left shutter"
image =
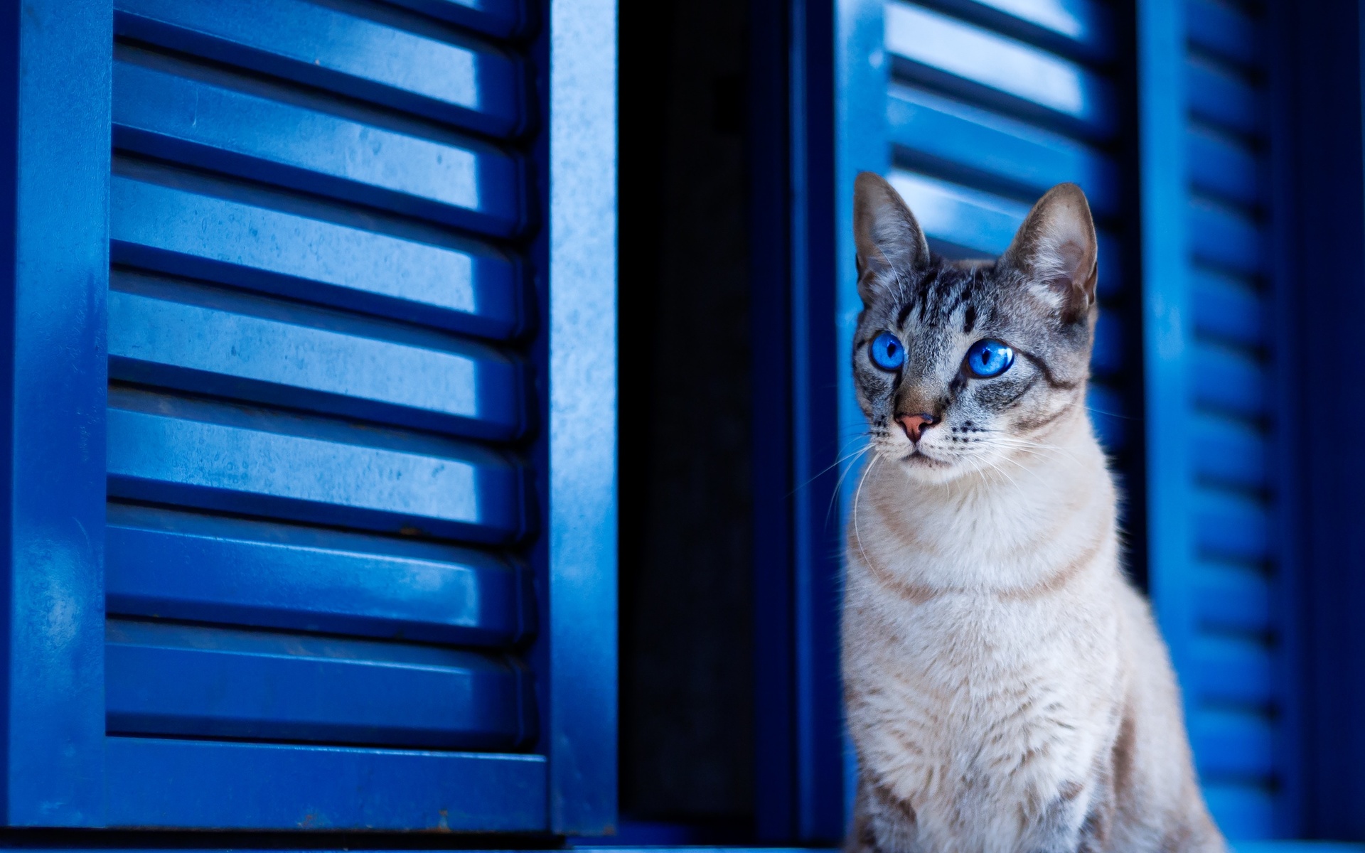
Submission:
POLYGON ((748 7, 620 11, 622 820, 753 823, 748 7))

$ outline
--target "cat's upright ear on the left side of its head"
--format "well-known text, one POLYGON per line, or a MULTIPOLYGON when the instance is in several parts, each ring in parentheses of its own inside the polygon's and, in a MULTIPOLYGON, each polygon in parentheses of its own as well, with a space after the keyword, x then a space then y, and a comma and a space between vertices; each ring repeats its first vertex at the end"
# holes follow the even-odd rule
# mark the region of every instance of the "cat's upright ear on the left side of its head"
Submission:
POLYGON ((876 173, 853 184, 853 237, 857 243, 857 292, 870 306, 900 276, 928 266, 930 244, 901 194, 876 173))

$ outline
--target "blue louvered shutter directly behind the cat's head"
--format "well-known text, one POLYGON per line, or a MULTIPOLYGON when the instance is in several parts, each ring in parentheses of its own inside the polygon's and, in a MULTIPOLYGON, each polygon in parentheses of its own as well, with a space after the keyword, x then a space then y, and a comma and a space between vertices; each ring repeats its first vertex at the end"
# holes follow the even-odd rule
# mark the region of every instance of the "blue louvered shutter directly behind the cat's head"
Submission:
MULTIPOLYGON (((1133 401, 1121 392, 1134 384, 1137 298, 1123 242, 1132 199, 1117 162, 1122 109, 1110 10, 1085 0, 839 5, 838 203, 850 203, 859 171, 882 172, 932 248, 987 257, 1009 246, 1050 187, 1085 190, 1100 233, 1102 303, 1089 405, 1102 441, 1125 465, 1138 441, 1133 401)), ((839 221, 850 216, 846 207, 839 221)), ((859 303, 852 236, 839 240, 846 352, 859 303)), ((861 414, 852 389, 842 400, 842 430, 856 435, 861 414)))

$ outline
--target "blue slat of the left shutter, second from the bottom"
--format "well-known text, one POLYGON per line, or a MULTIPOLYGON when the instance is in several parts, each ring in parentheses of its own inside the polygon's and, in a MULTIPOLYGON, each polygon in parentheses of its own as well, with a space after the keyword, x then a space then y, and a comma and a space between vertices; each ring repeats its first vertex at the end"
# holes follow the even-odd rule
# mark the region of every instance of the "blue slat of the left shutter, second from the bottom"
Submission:
POLYGON ((509 647, 526 566, 467 549, 111 504, 109 613, 509 647))

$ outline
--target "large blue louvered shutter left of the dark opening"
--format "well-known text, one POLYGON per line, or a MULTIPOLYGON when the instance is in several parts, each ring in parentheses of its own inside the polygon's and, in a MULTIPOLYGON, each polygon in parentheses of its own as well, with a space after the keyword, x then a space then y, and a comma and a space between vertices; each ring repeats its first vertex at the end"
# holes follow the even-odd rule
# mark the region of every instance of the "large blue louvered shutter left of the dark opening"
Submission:
MULTIPOLYGON (((34 33, 70 27, 57 5, 34 33)), ((66 677, 68 704, 100 706, 78 771, 104 794, 11 785, 8 822, 601 831, 613 4, 112 15, 112 67, 79 66, 91 105, 112 86, 112 168, 83 191, 109 199, 86 310, 106 310, 106 362, 81 349, 108 377, 83 433, 106 445, 105 517, 82 527, 102 525, 102 602, 63 602, 104 677, 11 685, 23 703, 66 677)))

